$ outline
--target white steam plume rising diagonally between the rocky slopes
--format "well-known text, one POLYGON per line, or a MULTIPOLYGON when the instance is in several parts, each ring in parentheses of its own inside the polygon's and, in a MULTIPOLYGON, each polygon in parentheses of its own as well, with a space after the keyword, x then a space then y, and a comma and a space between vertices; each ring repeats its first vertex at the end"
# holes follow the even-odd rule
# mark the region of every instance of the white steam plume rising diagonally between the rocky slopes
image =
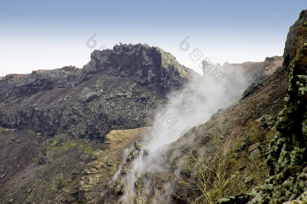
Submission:
MULTIPOLYGON (((150 134, 143 141, 143 150, 149 150, 149 155, 142 157, 141 153, 138 159, 133 160, 130 173, 122 179, 130 191, 136 177, 145 172, 168 170, 169 164, 163 159, 161 151, 158 151, 161 147, 167 148, 168 144, 182 137, 189 128, 205 123, 218 109, 227 108, 241 98, 243 90, 248 86, 245 76, 240 74, 243 68, 236 65, 235 70, 230 64, 214 67, 218 67, 224 76, 219 81, 204 73, 200 81, 171 93, 166 106, 159 108, 150 134)), ((129 203, 129 196, 131 192, 126 190, 122 201, 129 203)))

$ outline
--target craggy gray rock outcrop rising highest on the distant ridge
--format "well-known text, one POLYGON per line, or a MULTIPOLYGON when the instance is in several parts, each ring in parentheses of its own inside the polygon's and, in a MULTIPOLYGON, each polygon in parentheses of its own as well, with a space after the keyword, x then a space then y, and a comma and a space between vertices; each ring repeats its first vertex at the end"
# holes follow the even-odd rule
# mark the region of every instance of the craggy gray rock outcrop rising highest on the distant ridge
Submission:
POLYGON ((95 50, 82 70, 82 79, 105 72, 115 77, 131 76, 142 86, 158 88, 161 93, 178 89, 192 80, 188 69, 159 47, 145 44, 115 45, 113 50, 95 50))

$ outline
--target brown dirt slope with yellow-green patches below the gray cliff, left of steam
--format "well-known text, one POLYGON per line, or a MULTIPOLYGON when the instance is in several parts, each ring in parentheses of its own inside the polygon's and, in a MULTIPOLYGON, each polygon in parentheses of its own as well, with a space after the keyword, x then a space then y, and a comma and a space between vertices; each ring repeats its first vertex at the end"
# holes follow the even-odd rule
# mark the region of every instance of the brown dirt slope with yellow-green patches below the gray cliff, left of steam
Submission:
POLYGON ((100 203, 126 148, 146 127, 113 130, 104 144, 60 134, 47 138, 0 128, 0 203, 100 203), (39 164, 43 153, 46 164, 39 164))

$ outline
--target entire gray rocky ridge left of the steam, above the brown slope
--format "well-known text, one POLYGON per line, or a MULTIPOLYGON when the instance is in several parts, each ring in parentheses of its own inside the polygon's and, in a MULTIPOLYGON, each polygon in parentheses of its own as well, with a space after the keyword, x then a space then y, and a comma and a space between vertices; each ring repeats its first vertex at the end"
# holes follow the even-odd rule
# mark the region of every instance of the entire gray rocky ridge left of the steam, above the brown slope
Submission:
POLYGON ((65 66, 1 78, 0 125, 103 140, 111 129, 145 125, 147 113, 140 106, 155 107, 195 77, 158 47, 95 50, 83 69, 65 66))

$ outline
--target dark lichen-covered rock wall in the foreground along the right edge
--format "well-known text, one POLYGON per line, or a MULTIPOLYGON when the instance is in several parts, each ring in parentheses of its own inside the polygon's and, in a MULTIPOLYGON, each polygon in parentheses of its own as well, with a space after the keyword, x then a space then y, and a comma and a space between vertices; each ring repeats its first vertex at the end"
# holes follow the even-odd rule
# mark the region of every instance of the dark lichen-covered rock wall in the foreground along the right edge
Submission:
MULTIPOLYGON (((284 50, 284 65, 289 64, 290 81, 285 107, 280 112, 275 138, 270 142, 267 164, 270 177, 258 186, 249 199, 234 198, 232 203, 305 203, 307 191, 307 97, 302 87, 306 86, 307 67, 307 10, 289 29, 284 50), (242 202, 243 201, 243 202, 242 202)), ((260 120, 267 120, 267 117, 260 120)), ((263 122, 264 122, 263 121, 263 122)), ((230 203, 221 200, 219 203, 230 203)))

